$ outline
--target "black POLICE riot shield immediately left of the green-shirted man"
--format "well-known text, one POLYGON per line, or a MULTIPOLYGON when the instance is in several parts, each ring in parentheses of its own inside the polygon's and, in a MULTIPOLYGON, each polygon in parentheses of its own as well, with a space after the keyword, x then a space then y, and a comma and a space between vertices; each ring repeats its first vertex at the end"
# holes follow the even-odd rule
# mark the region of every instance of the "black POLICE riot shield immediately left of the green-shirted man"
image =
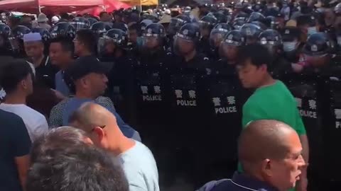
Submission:
POLYGON ((205 79, 205 112, 210 122, 207 155, 212 177, 232 175, 237 167, 237 140, 242 131, 242 86, 237 76, 210 75, 205 79), (208 149, 210 148, 210 149, 208 149))

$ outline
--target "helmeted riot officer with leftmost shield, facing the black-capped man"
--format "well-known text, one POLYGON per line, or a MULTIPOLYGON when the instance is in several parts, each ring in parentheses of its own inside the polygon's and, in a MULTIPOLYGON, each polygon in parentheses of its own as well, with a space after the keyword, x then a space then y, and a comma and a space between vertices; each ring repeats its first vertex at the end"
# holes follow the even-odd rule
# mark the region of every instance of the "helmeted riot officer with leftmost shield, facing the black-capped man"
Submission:
POLYGON ((128 36, 120 29, 111 29, 100 37, 97 54, 108 64, 107 94, 120 115, 131 122, 134 119, 134 66, 136 61, 128 50, 128 36))

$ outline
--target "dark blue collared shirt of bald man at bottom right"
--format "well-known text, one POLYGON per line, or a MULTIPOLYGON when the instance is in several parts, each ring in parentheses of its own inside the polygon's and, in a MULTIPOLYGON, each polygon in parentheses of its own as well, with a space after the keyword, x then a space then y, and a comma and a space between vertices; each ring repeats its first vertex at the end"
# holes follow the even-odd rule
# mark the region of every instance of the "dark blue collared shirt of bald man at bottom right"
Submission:
POLYGON ((234 173, 233 178, 224 180, 212 187, 210 191, 278 191, 275 187, 255 178, 251 178, 243 173, 234 173))

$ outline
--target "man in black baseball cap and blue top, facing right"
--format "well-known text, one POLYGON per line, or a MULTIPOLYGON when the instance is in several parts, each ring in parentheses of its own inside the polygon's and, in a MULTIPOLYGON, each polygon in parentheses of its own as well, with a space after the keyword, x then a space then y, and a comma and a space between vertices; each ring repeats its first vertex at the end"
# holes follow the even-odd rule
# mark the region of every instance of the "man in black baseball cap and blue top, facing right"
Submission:
POLYGON ((96 57, 80 57, 76 59, 66 71, 71 79, 68 84, 71 91, 75 91, 74 98, 67 98, 55 105, 50 112, 50 126, 59 127, 67 125, 69 117, 83 103, 94 102, 102 105, 117 117, 119 128, 126 137, 141 140, 139 133, 132 129, 121 119, 114 108, 112 100, 102 97, 107 88, 107 76, 105 75, 109 67, 99 62, 96 57))

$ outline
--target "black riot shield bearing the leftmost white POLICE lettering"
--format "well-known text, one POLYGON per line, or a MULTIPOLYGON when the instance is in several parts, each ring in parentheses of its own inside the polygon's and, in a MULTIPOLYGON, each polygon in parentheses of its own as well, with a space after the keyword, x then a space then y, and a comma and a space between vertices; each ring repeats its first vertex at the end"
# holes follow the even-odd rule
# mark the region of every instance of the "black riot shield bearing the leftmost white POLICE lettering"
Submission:
POLYGON ((135 67, 135 76, 140 133, 146 141, 154 140, 154 144, 158 144, 167 136, 166 117, 170 115, 168 69, 161 65, 139 65, 135 67))

